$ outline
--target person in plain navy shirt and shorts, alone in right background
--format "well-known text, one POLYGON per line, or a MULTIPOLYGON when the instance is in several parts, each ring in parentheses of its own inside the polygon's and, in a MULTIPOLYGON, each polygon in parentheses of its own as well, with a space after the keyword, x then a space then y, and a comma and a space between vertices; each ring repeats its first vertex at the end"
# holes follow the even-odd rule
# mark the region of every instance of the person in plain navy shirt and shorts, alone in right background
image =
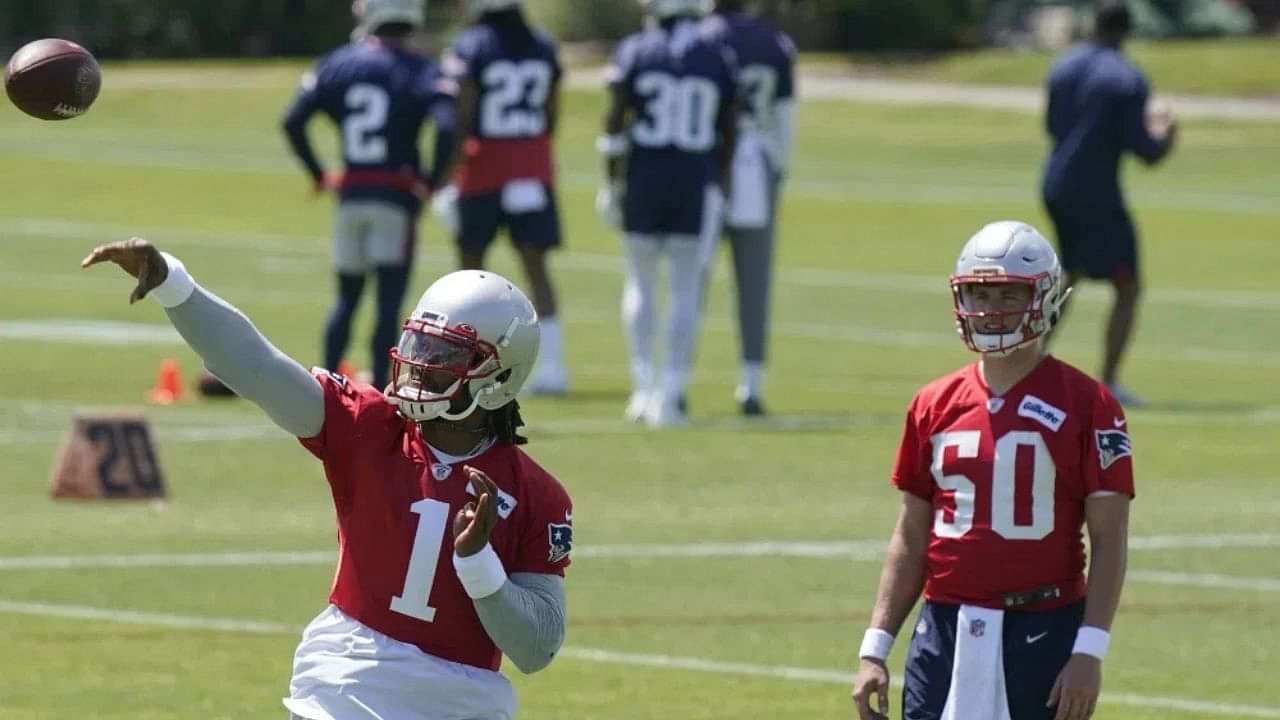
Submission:
POLYGON ((1120 191, 1120 156, 1158 163, 1172 149, 1178 126, 1167 111, 1148 114, 1147 79, 1121 53, 1132 26, 1124 3, 1102 3, 1093 41, 1065 53, 1050 70, 1046 124, 1053 150, 1042 192, 1068 286, 1089 278, 1115 290, 1102 382, 1120 402, 1137 406, 1142 401, 1119 384, 1140 290, 1138 232, 1120 191))

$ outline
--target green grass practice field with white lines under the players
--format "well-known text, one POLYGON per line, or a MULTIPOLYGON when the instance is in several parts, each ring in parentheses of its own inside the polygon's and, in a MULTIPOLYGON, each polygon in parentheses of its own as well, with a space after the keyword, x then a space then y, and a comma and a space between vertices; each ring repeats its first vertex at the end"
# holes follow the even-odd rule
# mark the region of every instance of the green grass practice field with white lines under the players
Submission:
MULTIPOLYGON (((305 451, 243 402, 187 401, 145 410, 166 506, 59 503, 47 486, 74 411, 141 409, 161 359, 188 378, 198 366, 157 306, 127 304, 123 275, 78 269, 95 243, 145 234, 317 361, 332 206, 308 197, 276 129, 294 70, 109 68, 82 119, 0 109, 0 717, 284 715, 296 630, 333 570, 329 493, 305 451), (90 340, 77 323, 134 340, 90 340), (224 552, 285 555, 134 557, 224 552)), ((600 105, 571 94, 559 143, 575 392, 525 405, 531 452, 576 500, 570 639, 549 670, 516 678, 521 716, 851 717, 901 414, 969 360, 945 283, 964 238, 1001 218, 1043 225, 1039 119, 806 105, 778 259, 774 415, 735 415, 722 265, 694 424, 650 433, 621 419, 618 242, 591 210, 600 105), (781 544, 748 544, 767 541, 781 544)), ((1188 122, 1184 141, 1165 168, 1126 170, 1149 286, 1126 380, 1151 406, 1130 414, 1132 577, 1097 717, 1280 717, 1280 126, 1188 122)), ((453 266, 439 231, 424 236, 416 288, 453 266)), ((494 264, 513 272, 506 246, 494 264)), ((1096 369, 1105 309, 1101 288, 1083 291, 1062 357, 1096 369)))

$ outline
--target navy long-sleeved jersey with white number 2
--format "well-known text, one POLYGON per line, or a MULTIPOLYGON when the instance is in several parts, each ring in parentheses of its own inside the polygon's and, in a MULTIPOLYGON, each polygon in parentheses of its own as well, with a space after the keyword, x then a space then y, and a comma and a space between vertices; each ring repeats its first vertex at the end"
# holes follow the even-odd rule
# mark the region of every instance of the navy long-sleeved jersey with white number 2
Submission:
POLYGON ((430 59, 370 38, 334 50, 303 76, 284 126, 294 151, 317 177, 320 165, 305 127, 314 114, 324 113, 342 136, 342 199, 389 200, 416 209, 411 191, 422 177, 419 136, 429 118, 451 124, 453 101, 451 81, 430 59))

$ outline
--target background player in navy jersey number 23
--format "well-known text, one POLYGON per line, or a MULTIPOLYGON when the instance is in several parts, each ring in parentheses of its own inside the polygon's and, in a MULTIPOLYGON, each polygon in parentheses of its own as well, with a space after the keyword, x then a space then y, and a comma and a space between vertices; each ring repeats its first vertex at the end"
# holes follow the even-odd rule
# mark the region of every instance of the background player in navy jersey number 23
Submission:
POLYGON ((552 137, 559 115, 556 42, 525 19, 520 0, 465 0, 471 24, 444 55, 458 85, 457 170, 434 211, 454 233, 462 266, 484 266, 507 228, 543 328, 535 395, 568 392, 556 288, 547 251, 561 243, 552 137))

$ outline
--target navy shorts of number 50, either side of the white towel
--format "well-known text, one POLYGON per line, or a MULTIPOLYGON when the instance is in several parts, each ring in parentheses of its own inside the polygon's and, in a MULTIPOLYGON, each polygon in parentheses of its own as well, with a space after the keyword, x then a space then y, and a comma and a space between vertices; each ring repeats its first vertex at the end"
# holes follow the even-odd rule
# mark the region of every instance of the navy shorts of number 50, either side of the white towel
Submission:
MULTIPOLYGON (((957 605, 925 602, 906 653, 902 720, 938 720, 951 691, 957 605)), ((1012 720, 1053 720, 1044 707, 1057 674, 1071 657, 1084 620, 1084 601, 1047 611, 1005 612, 1005 687, 1012 720)))

